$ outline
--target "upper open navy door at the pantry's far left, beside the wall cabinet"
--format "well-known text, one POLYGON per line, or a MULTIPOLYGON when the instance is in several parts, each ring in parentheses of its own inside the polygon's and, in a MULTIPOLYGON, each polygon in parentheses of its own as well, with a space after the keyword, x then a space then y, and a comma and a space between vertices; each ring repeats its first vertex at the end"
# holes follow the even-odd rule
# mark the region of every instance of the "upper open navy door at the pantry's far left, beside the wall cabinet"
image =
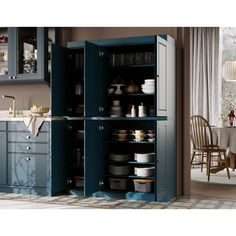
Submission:
POLYGON ((51 114, 67 115, 67 55, 68 49, 52 45, 51 114))

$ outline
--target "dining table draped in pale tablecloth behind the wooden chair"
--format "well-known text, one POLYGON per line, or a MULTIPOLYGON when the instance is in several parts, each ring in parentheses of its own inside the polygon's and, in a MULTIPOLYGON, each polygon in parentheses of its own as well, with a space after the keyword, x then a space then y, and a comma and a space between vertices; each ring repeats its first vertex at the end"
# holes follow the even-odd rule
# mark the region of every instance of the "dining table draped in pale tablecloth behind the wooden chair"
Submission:
POLYGON ((236 169, 236 126, 211 127, 213 143, 227 150, 229 167, 236 169))

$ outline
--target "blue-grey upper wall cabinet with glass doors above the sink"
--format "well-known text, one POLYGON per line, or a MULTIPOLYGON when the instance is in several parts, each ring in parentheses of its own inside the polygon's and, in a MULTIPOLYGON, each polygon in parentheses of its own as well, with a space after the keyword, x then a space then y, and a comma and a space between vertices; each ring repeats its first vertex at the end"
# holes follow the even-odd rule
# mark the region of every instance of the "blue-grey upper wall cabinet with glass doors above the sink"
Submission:
POLYGON ((47 29, 0 28, 0 82, 45 82, 47 29))

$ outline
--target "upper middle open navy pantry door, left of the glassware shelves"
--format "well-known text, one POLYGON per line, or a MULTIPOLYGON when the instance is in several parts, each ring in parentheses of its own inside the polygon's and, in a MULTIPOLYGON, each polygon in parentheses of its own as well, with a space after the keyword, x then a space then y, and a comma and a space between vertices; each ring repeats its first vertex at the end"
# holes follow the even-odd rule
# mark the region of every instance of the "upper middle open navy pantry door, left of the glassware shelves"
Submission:
POLYGON ((85 116, 105 114, 106 73, 104 49, 85 42, 85 116))

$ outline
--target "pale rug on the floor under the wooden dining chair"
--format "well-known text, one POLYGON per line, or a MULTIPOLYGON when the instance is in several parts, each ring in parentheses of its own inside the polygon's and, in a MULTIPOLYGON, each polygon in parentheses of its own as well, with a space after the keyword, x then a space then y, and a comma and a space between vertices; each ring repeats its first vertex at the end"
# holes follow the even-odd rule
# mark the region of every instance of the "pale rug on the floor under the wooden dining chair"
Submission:
POLYGON ((198 183, 223 184, 236 186, 236 171, 230 169, 230 179, 228 179, 226 170, 211 174, 210 181, 207 180, 206 169, 201 172, 200 168, 191 169, 191 180, 198 183))

